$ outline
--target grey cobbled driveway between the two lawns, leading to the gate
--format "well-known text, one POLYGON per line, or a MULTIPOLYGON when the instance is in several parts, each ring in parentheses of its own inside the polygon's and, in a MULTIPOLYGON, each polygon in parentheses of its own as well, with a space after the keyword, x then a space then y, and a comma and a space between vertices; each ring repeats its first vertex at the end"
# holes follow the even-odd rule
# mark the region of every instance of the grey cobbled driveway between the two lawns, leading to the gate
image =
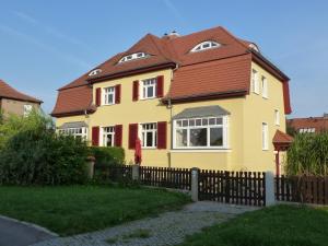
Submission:
POLYGON ((186 235, 257 208, 201 201, 180 211, 129 222, 98 232, 58 237, 33 246, 161 246, 184 242, 186 235))

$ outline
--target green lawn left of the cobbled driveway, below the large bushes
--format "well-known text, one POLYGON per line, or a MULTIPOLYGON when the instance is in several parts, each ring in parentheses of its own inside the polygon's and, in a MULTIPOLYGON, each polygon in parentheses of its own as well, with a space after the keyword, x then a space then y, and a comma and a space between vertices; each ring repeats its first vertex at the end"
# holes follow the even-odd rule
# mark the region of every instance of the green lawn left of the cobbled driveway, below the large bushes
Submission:
POLYGON ((112 186, 1 187, 0 214, 60 235, 101 230, 189 202, 183 194, 112 186))

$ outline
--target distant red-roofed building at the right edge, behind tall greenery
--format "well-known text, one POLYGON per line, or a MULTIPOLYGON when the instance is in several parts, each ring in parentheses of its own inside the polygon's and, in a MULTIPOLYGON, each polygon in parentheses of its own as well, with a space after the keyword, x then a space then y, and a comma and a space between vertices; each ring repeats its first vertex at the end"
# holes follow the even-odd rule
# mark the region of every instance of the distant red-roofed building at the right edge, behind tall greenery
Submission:
POLYGON ((328 114, 323 117, 293 118, 288 125, 298 133, 319 133, 328 131, 328 114))

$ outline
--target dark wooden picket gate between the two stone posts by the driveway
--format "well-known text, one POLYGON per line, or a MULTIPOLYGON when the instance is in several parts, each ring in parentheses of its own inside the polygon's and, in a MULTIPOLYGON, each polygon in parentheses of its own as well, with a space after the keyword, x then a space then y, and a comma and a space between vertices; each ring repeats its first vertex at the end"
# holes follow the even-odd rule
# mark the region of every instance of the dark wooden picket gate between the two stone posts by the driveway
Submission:
POLYGON ((200 171, 199 200, 265 206, 266 175, 257 172, 200 171))

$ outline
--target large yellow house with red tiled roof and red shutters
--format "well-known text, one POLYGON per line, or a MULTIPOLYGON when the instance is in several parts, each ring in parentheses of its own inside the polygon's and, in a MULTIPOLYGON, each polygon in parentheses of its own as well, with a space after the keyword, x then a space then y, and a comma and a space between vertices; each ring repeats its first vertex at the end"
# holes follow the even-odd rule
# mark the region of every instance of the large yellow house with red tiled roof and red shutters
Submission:
POLYGON ((291 113, 289 78, 223 27, 145 35, 59 89, 63 133, 122 147, 142 165, 274 171, 291 113), (274 145, 273 145, 274 140, 274 145))

